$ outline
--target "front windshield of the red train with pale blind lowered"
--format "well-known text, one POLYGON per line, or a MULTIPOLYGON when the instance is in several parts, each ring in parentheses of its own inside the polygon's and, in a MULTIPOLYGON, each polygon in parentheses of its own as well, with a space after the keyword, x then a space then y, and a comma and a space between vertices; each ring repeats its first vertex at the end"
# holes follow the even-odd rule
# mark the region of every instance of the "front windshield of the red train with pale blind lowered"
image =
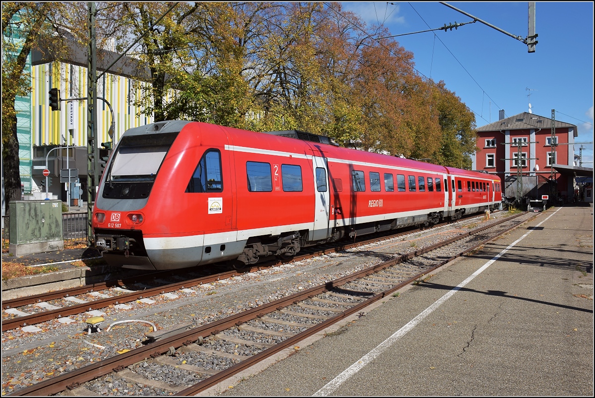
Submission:
POLYGON ((124 136, 112 157, 107 182, 153 182, 178 133, 124 136))

